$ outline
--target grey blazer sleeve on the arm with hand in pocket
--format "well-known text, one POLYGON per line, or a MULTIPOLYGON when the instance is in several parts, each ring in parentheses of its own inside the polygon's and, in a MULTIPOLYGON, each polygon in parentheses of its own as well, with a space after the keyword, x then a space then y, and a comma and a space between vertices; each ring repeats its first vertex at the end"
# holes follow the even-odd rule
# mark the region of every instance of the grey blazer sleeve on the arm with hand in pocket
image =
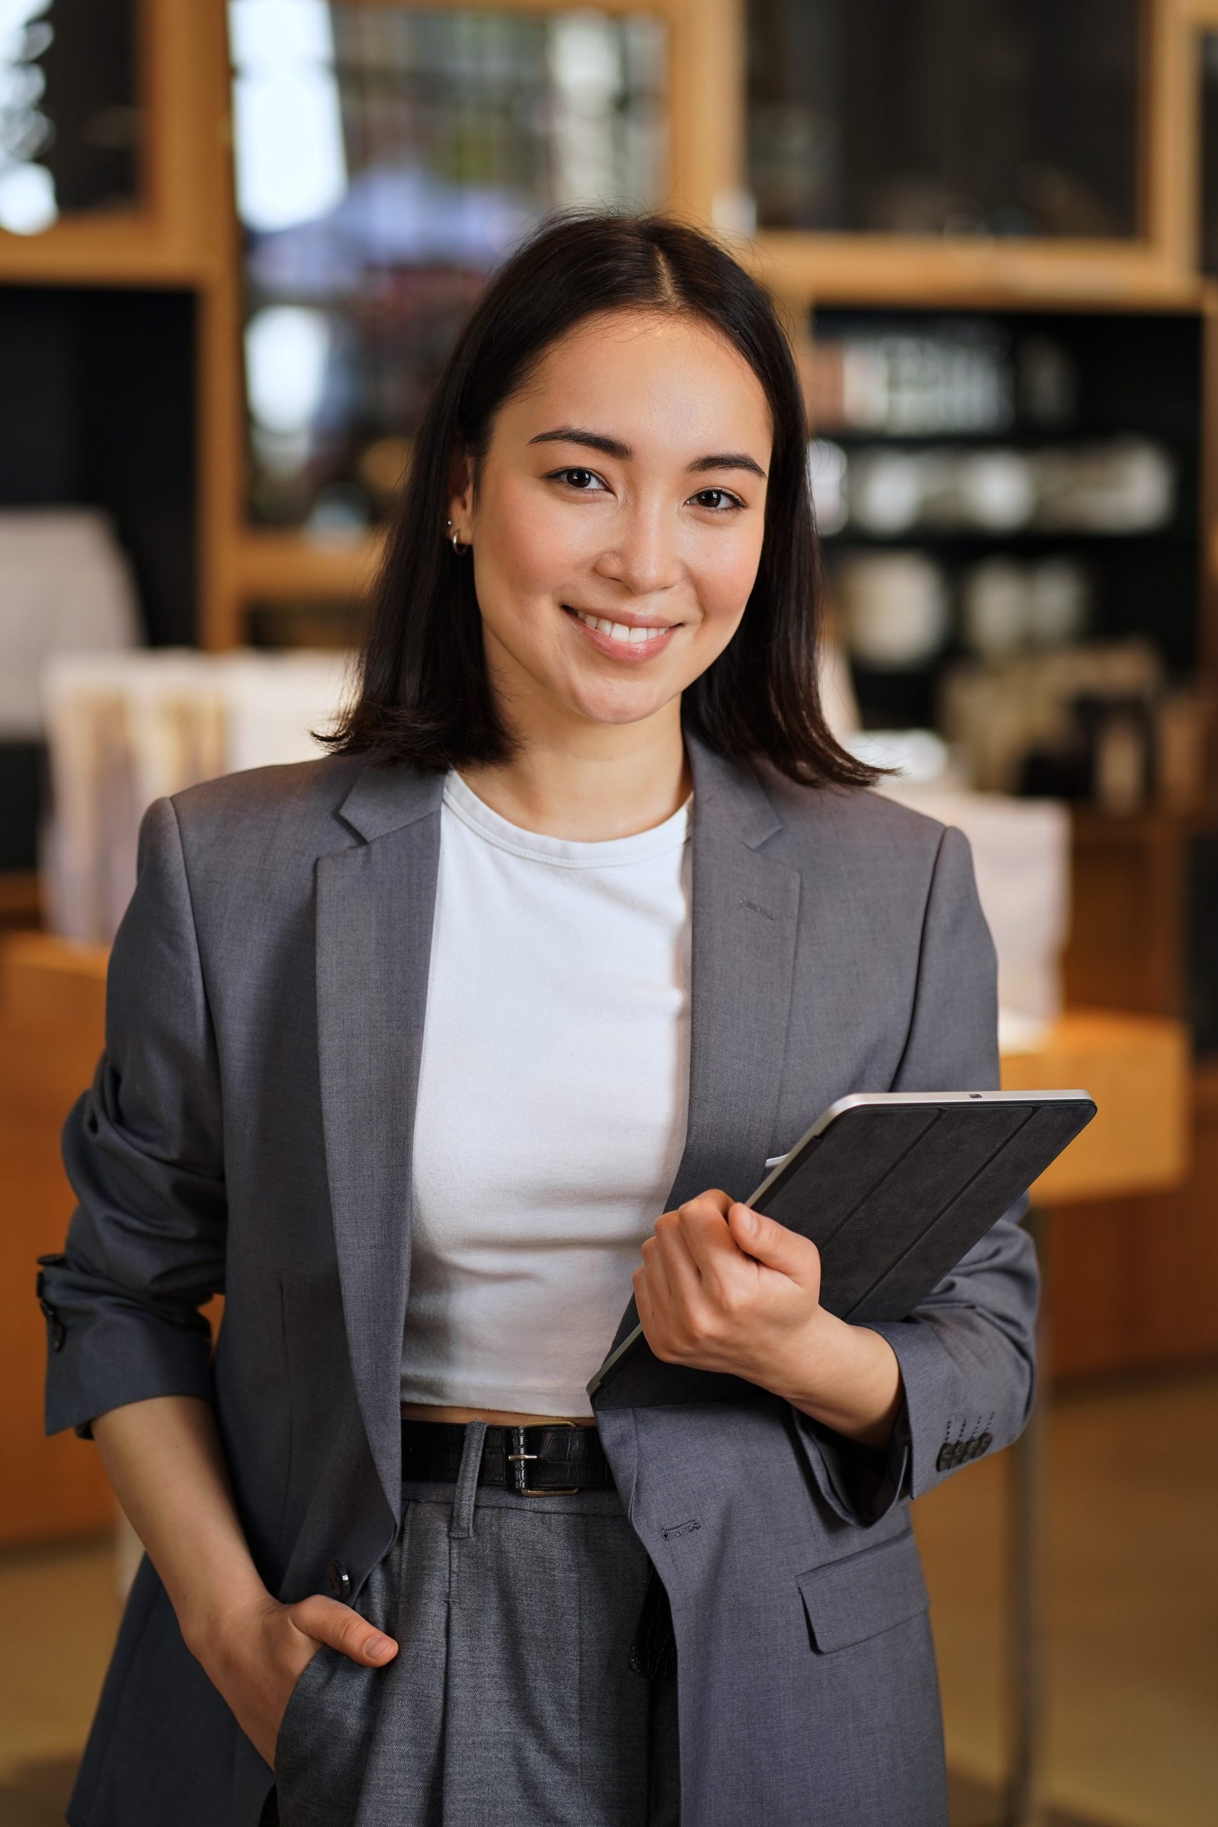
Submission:
POLYGON ((215 1036, 177 815, 144 815, 135 893, 106 983, 106 1051, 64 1124, 77 1195, 64 1250, 42 1257, 46 1431, 150 1396, 212 1396, 199 1306, 225 1284, 225 1164, 215 1036))

